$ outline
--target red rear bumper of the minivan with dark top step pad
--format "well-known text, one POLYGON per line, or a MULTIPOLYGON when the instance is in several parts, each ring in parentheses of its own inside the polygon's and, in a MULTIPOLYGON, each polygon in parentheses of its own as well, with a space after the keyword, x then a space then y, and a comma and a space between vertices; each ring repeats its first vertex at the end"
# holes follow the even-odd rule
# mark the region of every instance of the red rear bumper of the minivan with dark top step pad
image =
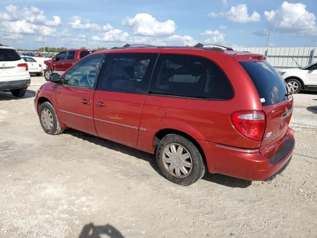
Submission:
POLYGON ((226 146, 219 147, 212 142, 198 142, 205 152, 210 173, 248 180, 265 180, 285 169, 295 147, 294 130, 290 127, 284 145, 272 156, 274 158, 265 157, 257 149, 239 150, 226 146))

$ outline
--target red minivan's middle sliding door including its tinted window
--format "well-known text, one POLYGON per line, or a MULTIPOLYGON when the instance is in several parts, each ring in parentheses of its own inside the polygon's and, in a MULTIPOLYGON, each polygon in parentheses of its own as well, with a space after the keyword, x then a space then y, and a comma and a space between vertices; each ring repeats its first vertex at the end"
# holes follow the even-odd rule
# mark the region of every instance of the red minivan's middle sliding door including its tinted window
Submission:
POLYGON ((156 53, 108 54, 94 95, 99 136, 135 147, 156 53))

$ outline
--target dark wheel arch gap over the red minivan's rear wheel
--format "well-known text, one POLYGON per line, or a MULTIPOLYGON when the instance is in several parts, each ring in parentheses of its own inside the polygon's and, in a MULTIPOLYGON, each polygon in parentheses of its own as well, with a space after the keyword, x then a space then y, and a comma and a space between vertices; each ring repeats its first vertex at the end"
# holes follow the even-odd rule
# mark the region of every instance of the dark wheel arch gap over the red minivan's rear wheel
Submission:
POLYGON ((168 134, 178 134, 181 135, 183 137, 185 137, 186 139, 188 139, 190 142, 192 142, 197 149, 199 150, 199 152, 201 153, 204 161, 206 162, 206 157, 205 157, 205 153, 203 148, 201 147, 201 145, 198 143, 198 141, 196 139, 194 139, 193 136, 189 135, 188 133, 185 133, 183 131, 177 130, 177 129, 172 129, 172 128, 164 128, 164 129, 160 129, 154 136, 153 139, 153 148, 154 148, 154 153, 156 153, 157 147, 159 145, 159 141, 166 135, 168 134))

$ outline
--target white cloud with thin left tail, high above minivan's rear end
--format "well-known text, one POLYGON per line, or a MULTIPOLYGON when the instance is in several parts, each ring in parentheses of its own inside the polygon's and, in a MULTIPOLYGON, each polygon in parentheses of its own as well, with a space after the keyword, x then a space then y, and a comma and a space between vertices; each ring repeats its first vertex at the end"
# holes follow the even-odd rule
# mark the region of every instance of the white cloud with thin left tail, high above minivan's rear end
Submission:
POLYGON ((229 21, 235 23, 247 23, 247 22, 257 22, 261 20, 261 15, 254 11, 251 16, 248 13, 248 7, 246 4, 238 4, 236 6, 231 6, 230 10, 227 12, 211 12, 208 14, 209 17, 227 17, 229 21))

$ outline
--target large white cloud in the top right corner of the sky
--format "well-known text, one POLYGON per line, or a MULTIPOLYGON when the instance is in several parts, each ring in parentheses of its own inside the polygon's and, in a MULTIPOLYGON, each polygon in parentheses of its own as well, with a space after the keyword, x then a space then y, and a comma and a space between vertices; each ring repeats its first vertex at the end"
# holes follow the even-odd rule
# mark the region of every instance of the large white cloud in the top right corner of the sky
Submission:
POLYGON ((264 16, 273 29, 279 32, 317 36, 316 16, 308 12, 303 3, 284 1, 276 10, 264 11, 264 16))

